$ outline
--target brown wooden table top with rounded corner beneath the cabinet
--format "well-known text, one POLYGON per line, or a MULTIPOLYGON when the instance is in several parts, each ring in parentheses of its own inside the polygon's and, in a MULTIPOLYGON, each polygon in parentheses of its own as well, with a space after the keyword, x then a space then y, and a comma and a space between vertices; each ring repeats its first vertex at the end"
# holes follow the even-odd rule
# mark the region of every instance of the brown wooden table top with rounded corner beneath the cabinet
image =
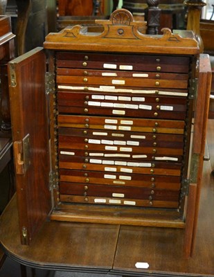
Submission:
POLYGON ((16 197, 0 219, 8 256, 30 267, 123 276, 214 276, 214 181, 205 162, 195 251, 184 258, 184 229, 45 222, 30 244, 20 244, 16 197), (136 269, 148 262, 148 269, 136 269))

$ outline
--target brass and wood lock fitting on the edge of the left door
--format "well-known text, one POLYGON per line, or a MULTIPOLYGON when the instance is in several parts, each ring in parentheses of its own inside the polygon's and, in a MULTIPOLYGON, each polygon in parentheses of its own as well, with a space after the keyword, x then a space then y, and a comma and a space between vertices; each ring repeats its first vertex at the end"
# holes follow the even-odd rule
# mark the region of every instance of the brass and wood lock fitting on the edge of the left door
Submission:
POLYGON ((17 175, 24 175, 30 166, 30 135, 13 143, 17 175))

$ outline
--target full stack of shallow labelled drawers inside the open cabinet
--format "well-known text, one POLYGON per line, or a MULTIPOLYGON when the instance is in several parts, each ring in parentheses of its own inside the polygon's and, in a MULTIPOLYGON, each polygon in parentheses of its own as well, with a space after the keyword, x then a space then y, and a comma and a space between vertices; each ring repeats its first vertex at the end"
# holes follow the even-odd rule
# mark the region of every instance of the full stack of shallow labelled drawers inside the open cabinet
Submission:
POLYGON ((190 57, 56 53, 63 203, 181 208, 190 57))

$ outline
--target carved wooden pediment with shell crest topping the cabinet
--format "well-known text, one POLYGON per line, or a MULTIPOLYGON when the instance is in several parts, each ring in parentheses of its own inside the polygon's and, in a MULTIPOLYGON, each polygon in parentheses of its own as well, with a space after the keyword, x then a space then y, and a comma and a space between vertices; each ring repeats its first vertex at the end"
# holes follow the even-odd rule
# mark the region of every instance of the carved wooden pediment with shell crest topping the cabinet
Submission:
POLYGON ((46 36, 44 48, 71 51, 97 51, 120 53, 159 53, 197 55, 199 47, 195 39, 172 34, 163 28, 163 35, 143 35, 138 28, 146 29, 145 21, 134 21, 131 12, 116 10, 109 20, 96 20, 103 26, 102 33, 89 33, 86 27, 64 28, 60 33, 46 36))

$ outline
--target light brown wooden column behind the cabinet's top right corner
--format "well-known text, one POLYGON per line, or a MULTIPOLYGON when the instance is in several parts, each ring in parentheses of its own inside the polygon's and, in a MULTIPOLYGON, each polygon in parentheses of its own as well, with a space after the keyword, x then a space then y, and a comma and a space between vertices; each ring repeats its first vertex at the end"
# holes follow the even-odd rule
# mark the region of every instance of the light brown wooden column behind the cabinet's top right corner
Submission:
POLYGON ((206 6, 202 0, 186 0, 184 5, 188 8, 188 19, 186 30, 193 30, 195 33, 195 39, 197 40, 200 48, 200 52, 204 51, 204 44, 202 37, 200 35, 200 18, 202 13, 202 8, 206 6))

